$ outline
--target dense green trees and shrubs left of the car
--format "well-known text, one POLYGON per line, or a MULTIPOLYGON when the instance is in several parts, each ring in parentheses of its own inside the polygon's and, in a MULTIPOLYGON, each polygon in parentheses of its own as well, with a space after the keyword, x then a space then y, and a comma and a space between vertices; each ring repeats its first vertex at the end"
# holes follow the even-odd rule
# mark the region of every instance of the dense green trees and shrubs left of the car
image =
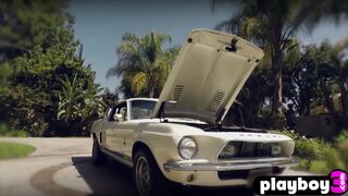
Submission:
POLYGON ((65 1, 0 4, 0 124, 32 136, 88 134, 100 89, 63 12, 65 1))

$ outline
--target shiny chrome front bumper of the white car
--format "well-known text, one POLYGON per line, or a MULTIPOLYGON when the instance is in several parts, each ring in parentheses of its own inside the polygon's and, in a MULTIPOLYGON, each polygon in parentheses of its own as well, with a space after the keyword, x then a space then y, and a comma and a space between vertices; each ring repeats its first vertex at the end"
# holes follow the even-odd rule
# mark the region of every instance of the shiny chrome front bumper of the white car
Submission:
POLYGON ((165 171, 234 171, 254 170, 264 168, 286 168, 297 166, 295 158, 238 159, 210 162, 206 159, 169 161, 164 163, 165 171))

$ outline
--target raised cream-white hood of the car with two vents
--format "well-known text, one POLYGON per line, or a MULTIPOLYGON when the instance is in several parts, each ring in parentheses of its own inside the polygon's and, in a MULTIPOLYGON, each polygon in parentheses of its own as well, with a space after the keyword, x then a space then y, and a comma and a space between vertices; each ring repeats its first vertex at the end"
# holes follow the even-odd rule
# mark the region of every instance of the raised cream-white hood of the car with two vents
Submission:
POLYGON ((221 122, 262 57, 260 48, 235 35, 194 29, 164 84, 153 118, 221 122))

